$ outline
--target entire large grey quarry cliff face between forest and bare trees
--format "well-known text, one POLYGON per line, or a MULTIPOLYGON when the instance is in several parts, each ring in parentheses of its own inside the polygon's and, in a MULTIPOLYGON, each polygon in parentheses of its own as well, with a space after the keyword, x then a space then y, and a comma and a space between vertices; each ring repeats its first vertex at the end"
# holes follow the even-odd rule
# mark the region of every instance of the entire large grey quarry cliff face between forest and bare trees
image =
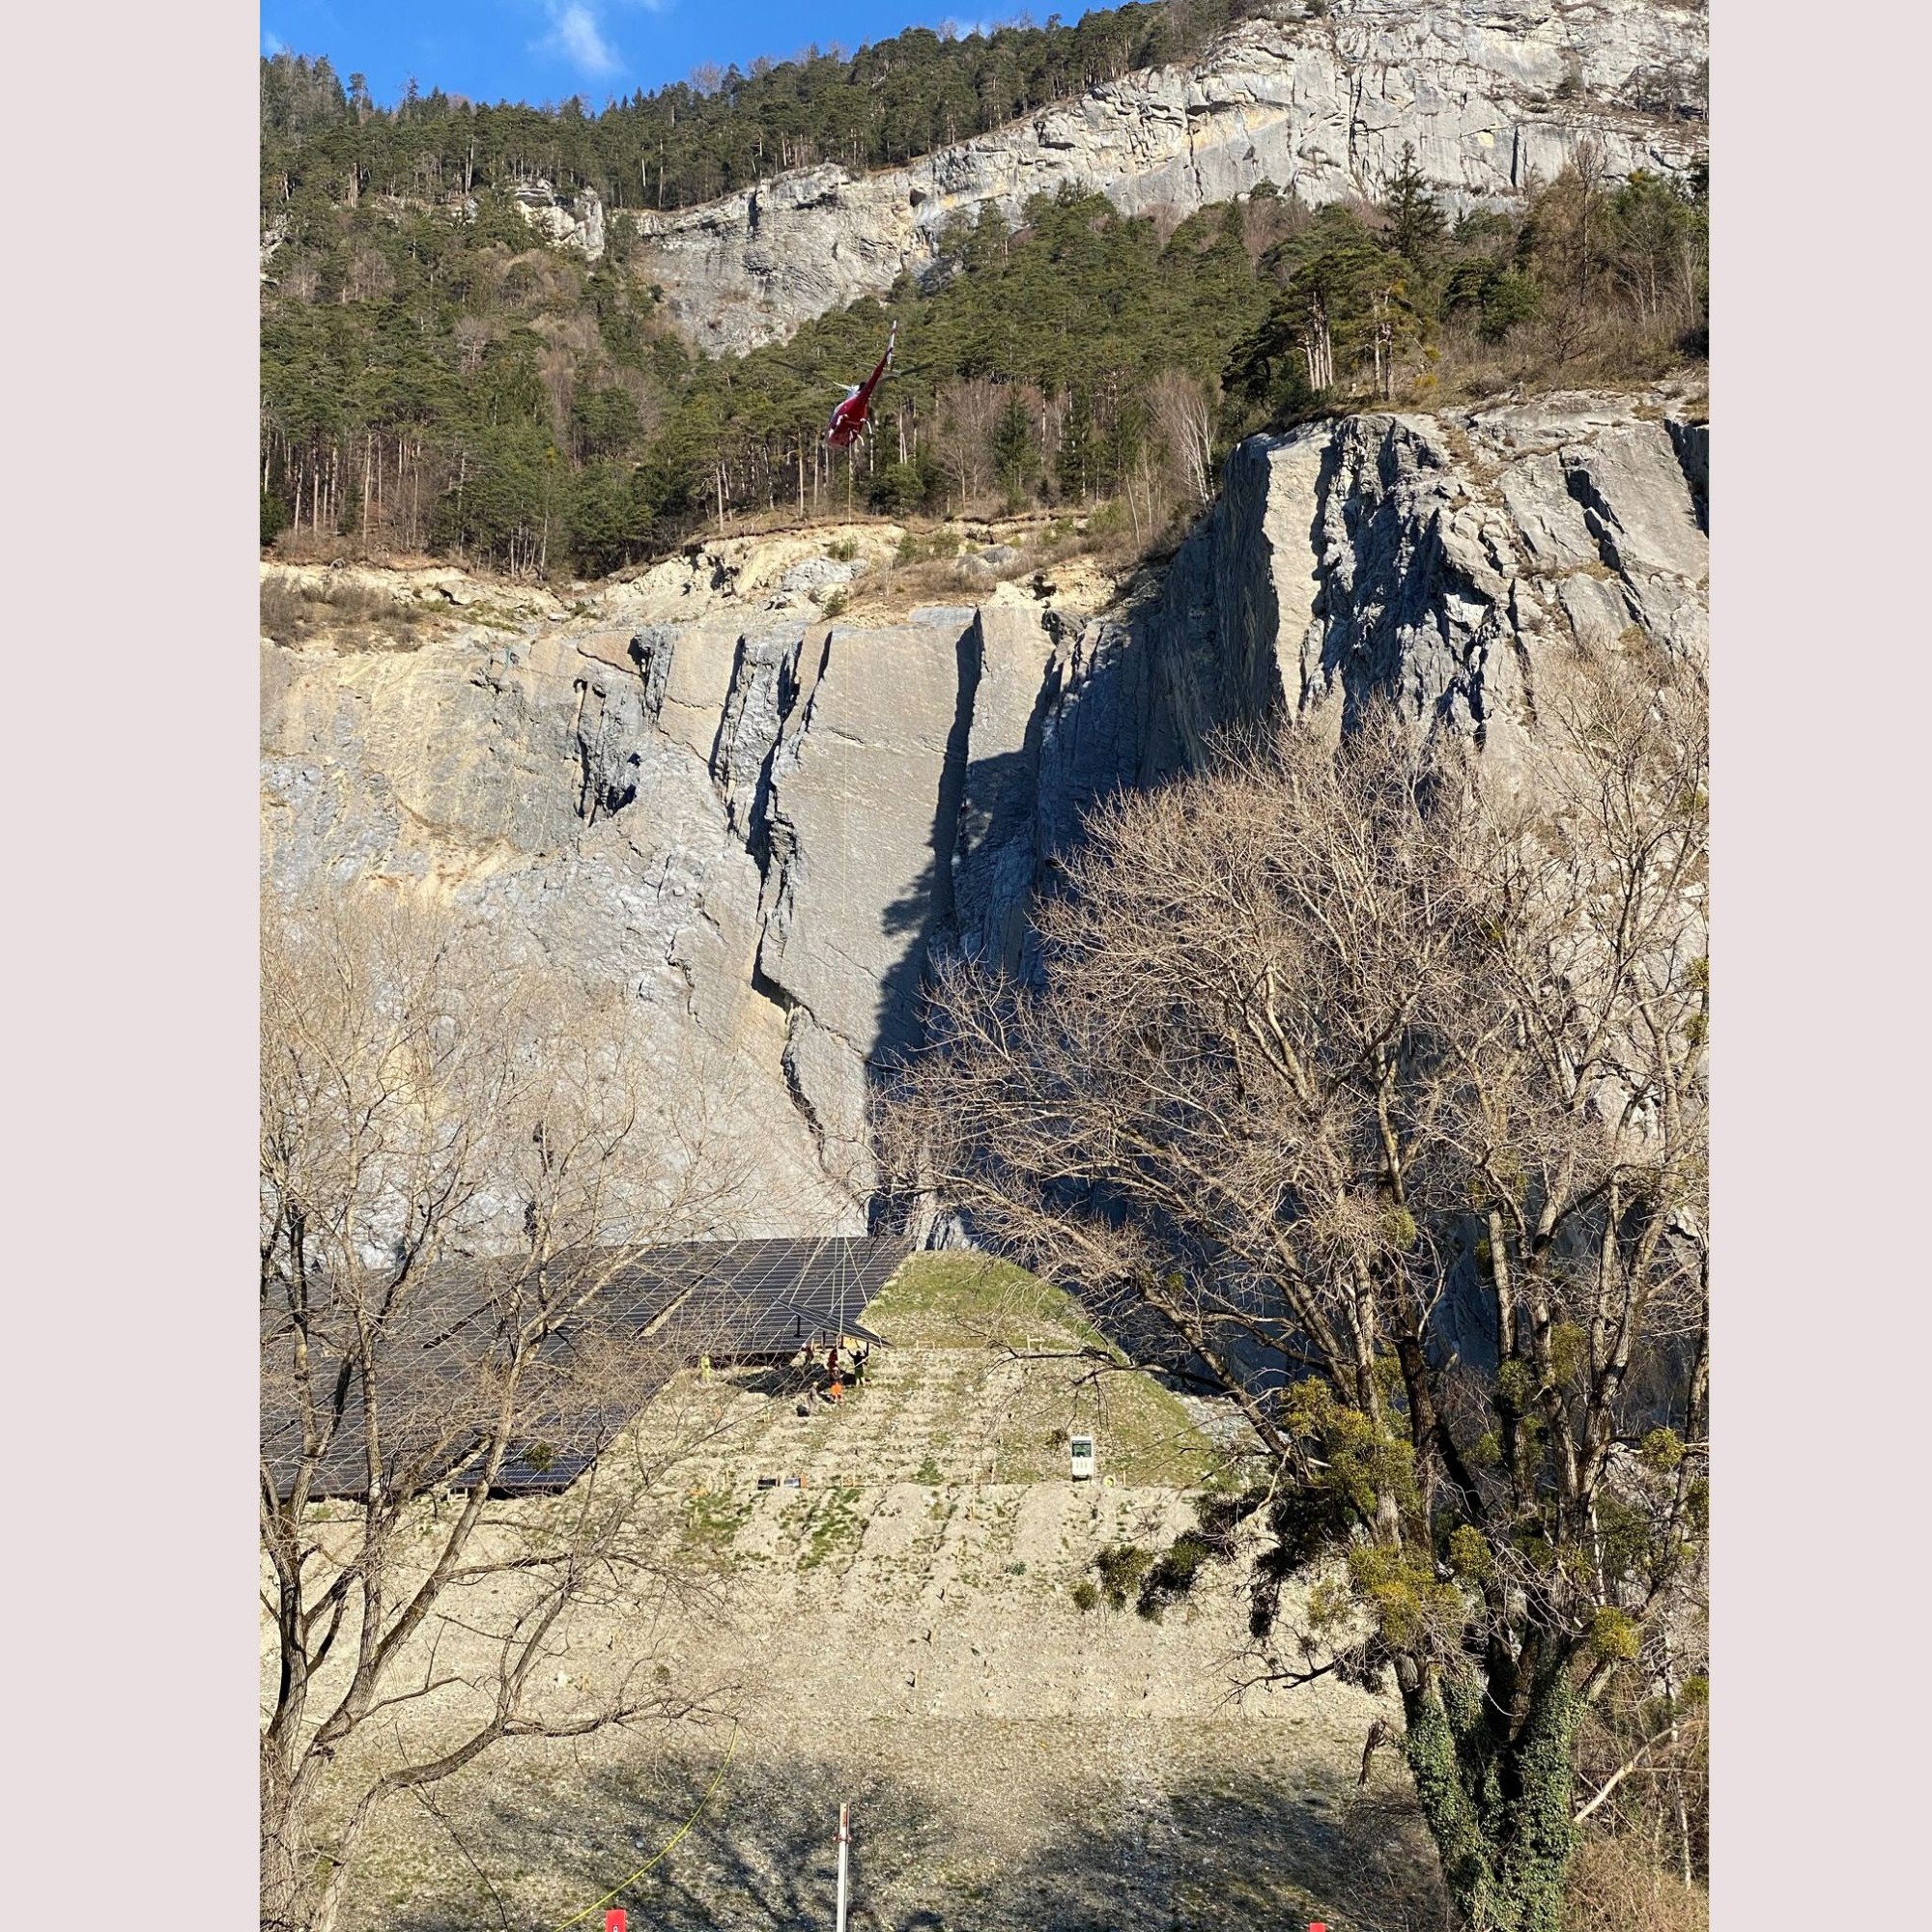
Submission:
POLYGON ((1097 616, 1001 585, 819 620, 808 589, 883 564, 879 526, 846 562, 740 539, 570 609, 394 576, 454 628, 265 643, 269 879, 413 883, 626 987, 761 1175, 744 1233, 856 1229, 867 1078, 916 1043, 935 945, 1018 964, 1086 806, 1231 721, 1335 730, 1391 694, 1507 753, 1549 653, 1702 651, 1706 440, 1662 392, 1258 437, 1161 583, 1097 616))

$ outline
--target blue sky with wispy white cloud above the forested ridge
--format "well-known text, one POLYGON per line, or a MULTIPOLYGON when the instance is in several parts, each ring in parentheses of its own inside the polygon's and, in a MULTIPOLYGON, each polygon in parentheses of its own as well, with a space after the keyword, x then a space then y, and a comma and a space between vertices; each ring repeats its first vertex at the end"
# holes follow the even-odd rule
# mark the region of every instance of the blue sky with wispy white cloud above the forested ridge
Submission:
MULTIPOLYGON (((1080 0, 1036 6, 1078 19, 1080 0)), ((267 0, 261 10, 265 54, 327 54, 336 71, 369 77, 377 100, 396 100, 410 75, 423 93, 442 87, 471 100, 564 100, 684 79, 699 62, 750 66, 759 54, 782 60, 808 43, 840 43, 848 52, 902 27, 966 33, 980 21, 1012 19, 958 0, 267 0)))

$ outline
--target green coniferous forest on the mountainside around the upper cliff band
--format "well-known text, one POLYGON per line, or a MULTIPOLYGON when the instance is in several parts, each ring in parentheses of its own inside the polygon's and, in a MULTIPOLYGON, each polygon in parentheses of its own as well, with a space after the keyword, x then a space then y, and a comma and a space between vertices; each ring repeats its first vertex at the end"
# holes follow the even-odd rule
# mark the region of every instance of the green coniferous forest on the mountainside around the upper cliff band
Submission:
POLYGON ((282 554, 435 554, 601 576, 703 527, 871 510, 1105 510, 1146 547, 1242 435, 1511 384, 1650 381, 1706 352, 1706 191, 1605 180, 1588 151, 1520 205, 1451 218, 1412 160, 1374 199, 1264 184, 1192 214, 1036 199, 956 222, 941 263, 786 344, 705 357, 665 323, 620 213, 782 166, 889 166, 1180 58, 1242 0, 1076 27, 910 29, 699 71, 591 112, 394 108, 327 60, 261 68, 261 537, 282 554), (547 247, 533 176, 612 211, 595 265, 547 247), (837 388, 898 357, 875 433, 823 442, 837 388))

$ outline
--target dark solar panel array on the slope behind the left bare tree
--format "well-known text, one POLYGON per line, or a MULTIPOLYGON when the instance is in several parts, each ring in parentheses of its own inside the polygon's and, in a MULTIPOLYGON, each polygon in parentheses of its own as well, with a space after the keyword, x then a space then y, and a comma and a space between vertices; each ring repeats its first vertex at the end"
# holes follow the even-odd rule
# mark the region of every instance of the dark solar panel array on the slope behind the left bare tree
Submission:
MULTIPOLYGON (((520 1449, 493 1488, 558 1490, 582 1474, 641 1408, 667 1366, 709 1356, 786 1360, 838 1337, 877 1343, 866 1304, 906 1258, 896 1238, 678 1242, 583 1248, 553 1264, 554 1323, 529 1354, 518 1412, 520 1449)), ((464 1262, 413 1283, 377 1321, 377 1410, 390 1482, 415 1490, 479 1480, 493 1424, 489 1364, 504 1354, 514 1300, 510 1262, 464 1262)), ((365 1291, 373 1293, 373 1291, 365 1291)), ((309 1296, 313 1403, 325 1447, 311 1495, 367 1488, 361 1387, 352 1310, 327 1285, 309 1296)), ((263 1304, 261 1451, 278 1495, 301 1464, 301 1412, 286 1308, 263 1304)))

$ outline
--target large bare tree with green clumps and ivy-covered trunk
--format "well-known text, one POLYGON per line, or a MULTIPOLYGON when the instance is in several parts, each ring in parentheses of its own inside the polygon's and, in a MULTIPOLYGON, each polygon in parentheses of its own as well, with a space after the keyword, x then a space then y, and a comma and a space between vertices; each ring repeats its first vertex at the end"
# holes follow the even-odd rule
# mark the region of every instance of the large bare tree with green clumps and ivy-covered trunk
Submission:
POLYGON ((1484 1932, 1557 1926, 1578 1723, 1704 1522, 1702 688, 1561 682, 1515 790, 1381 715, 1103 806, 1043 980, 947 970, 885 1111, 908 1188, 1240 1405, 1260 1675, 1395 1677, 1484 1932))

